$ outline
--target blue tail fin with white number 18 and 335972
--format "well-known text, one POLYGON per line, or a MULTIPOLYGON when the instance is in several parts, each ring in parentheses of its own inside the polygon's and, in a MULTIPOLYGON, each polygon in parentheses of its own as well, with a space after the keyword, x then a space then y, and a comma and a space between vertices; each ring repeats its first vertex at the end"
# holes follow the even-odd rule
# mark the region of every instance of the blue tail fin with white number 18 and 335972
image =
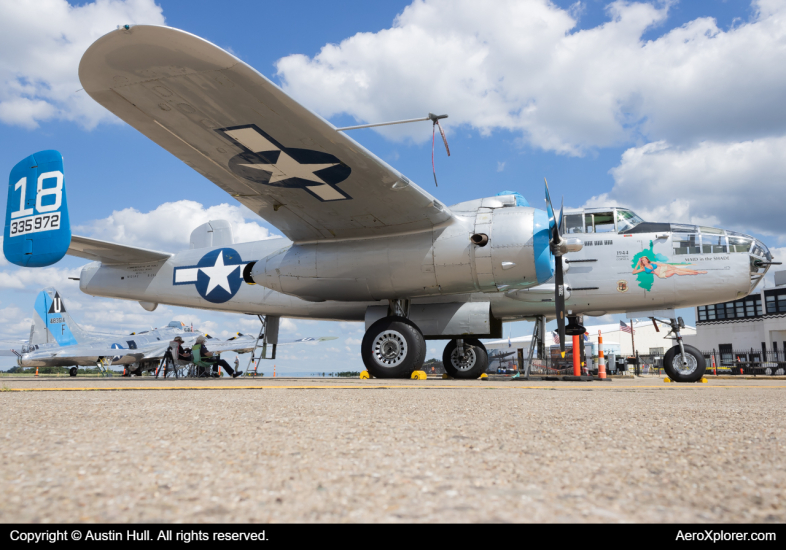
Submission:
POLYGON ((30 155, 11 170, 3 254, 23 267, 59 262, 71 244, 63 157, 57 151, 30 155))

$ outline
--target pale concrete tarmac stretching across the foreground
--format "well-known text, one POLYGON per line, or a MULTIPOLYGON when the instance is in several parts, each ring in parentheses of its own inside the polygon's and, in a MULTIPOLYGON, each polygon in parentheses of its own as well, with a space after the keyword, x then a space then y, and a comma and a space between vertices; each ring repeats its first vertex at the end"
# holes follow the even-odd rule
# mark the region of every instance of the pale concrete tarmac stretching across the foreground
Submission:
POLYGON ((2 522, 786 521, 780 380, 0 383, 2 522))

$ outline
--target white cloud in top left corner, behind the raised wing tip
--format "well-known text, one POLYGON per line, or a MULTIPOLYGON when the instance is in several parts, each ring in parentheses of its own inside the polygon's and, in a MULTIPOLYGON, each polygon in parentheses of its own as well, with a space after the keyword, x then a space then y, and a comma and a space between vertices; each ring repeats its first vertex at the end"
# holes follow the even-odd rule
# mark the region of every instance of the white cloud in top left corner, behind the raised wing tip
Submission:
POLYGON ((114 117, 79 83, 85 50, 121 24, 163 25, 153 0, 0 2, 0 121, 36 128, 51 119, 91 128, 114 117))

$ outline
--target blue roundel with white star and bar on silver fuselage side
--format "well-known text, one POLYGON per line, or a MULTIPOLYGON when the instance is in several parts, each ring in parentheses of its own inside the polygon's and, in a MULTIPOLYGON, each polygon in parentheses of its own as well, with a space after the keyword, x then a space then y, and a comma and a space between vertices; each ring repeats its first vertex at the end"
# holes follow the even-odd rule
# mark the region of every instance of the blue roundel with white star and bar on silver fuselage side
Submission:
POLYGON ((195 285, 202 298, 222 304, 240 290, 245 265, 234 248, 211 250, 197 265, 176 267, 172 284, 195 285))

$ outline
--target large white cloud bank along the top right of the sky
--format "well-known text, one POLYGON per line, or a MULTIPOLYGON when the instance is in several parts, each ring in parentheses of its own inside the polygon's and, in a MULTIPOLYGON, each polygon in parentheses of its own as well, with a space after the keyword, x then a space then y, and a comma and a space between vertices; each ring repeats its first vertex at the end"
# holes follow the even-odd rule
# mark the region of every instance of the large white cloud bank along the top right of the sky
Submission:
MULTIPOLYGON (((284 89, 323 116, 358 121, 450 114, 449 127, 518 132, 566 154, 641 139, 751 139, 786 128, 786 5, 753 2, 723 30, 695 19, 655 40, 671 2, 612 2, 575 31, 581 10, 548 0, 415 0, 393 25, 277 63, 284 89)), ((379 130, 425 139, 417 125, 379 130)))

